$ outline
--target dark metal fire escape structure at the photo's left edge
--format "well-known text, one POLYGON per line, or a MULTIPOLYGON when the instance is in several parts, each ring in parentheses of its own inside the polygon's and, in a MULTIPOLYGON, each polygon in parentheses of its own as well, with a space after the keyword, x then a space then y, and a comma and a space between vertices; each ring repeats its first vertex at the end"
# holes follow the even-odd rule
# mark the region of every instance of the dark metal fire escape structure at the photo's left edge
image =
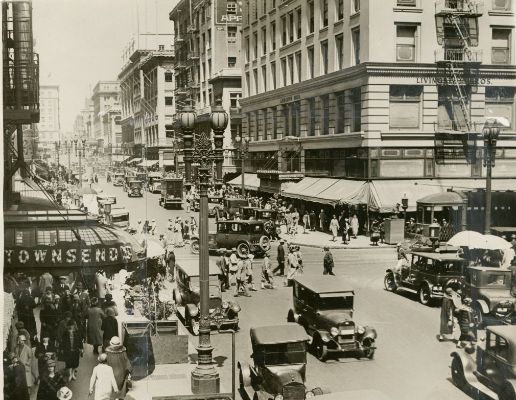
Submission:
POLYGON ((39 122, 39 65, 30 2, 2 3, 2 61, 4 209, 9 209, 14 201, 13 176, 21 169, 25 177, 24 153, 32 157, 34 139, 27 136, 24 140, 23 125, 39 122))

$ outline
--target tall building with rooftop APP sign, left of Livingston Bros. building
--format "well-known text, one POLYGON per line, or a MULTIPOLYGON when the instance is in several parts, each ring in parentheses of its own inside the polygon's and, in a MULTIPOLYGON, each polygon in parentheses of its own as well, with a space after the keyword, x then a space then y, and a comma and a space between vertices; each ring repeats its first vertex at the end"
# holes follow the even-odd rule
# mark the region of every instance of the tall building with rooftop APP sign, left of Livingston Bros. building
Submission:
POLYGON ((211 132, 211 107, 215 99, 222 99, 230 117, 224 133, 224 174, 235 172, 233 139, 241 127, 240 4, 236 0, 181 0, 170 12, 175 35, 176 110, 179 113, 190 101, 198 117, 195 134, 211 132))

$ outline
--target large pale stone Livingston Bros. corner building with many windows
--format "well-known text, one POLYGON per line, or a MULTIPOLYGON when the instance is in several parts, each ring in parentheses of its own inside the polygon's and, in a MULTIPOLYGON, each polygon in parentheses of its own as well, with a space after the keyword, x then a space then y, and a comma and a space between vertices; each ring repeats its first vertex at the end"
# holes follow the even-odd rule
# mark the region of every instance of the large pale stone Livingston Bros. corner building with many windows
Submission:
POLYGON ((510 126, 493 190, 514 189, 514 3, 246 0, 249 179, 383 212, 406 195, 410 211, 454 185, 485 187, 481 130, 498 116, 510 126))

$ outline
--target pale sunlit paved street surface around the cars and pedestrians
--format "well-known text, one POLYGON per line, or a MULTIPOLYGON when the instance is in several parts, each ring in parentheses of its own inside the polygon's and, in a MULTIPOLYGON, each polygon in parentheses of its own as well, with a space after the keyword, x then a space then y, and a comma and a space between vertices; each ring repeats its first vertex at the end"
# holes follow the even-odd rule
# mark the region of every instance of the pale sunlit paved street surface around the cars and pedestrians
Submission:
MULTIPOLYGON (((115 194, 119 204, 131 213, 131 223, 136 219, 156 218, 158 231, 166 227, 167 219, 188 214, 182 210, 164 210, 158 205, 157 194, 128 199, 121 187, 101 182, 104 193, 115 194)), ((198 214, 196 214, 198 218, 198 214)), ((211 225, 214 220, 211 219, 211 225)), ((276 254, 276 244, 272 244, 276 254)), ((322 273, 322 250, 301 248, 304 271, 307 275, 322 273)), ((308 387, 328 387, 333 392, 376 388, 393 399, 417 398, 461 399, 468 398, 450 381, 449 354, 453 343, 437 340, 439 308, 429 308, 417 302, 415 295, 392 294, 383 289, 383 276, 387 266, 396 262, 393 249, 335 249, 335 274, 350 280, 356 291, 353 319, 356 324, 370 325, 378 332, 374 360, 340 359, 321 363, 312 355, 308 357, 308 387)), ((176 249, 178 262, 195 258, 187 247, 176 249)), ((260 260, 255 261, 255 281, 260 280, 260 260)), ((236 360, 250 361, 249 328, 261 323, 283 323, 292 306, 290 288, 278 285, 277 290, 253 293, 253 297, 239 297, 243 311, 240 313, 240 332, 236 335, 236 360)), ((227 292, 229 295, 230 293, 227 292)), ((229 298, 229 296, 228 296, 229 298)), ((233 298, 231 296, 231 298, 233 298)), ((196 344, 197 338, 191 343, 196 344)), ((229 335, 212 335, 215 347, 214 360, 218 363, 222 384, 231 387, 231 338, 229 335)), ((87 357, 90 357, 88 352, 87 357)), ((238 380, 238 375, 237 375, 238 380)), ((238 384, 238 382, 237 382, 238 384)), ((74 382, 74 386, 79 382, 74 382)), ((80 390, 80 394, 86 393, 80 390)), ((237 398, 239 396, 237 395, 237 398)))

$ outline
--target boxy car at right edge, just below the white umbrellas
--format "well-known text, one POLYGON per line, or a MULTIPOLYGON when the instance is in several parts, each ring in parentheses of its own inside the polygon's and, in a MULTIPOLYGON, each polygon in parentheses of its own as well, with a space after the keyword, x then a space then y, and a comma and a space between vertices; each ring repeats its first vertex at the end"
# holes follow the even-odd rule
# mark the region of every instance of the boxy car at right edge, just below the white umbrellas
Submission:
POLYGON ((516 324, 516 299, 510 289, 510 269, 467 267, 464 271, 462 292, 473 299, 479 325, 516 324))

